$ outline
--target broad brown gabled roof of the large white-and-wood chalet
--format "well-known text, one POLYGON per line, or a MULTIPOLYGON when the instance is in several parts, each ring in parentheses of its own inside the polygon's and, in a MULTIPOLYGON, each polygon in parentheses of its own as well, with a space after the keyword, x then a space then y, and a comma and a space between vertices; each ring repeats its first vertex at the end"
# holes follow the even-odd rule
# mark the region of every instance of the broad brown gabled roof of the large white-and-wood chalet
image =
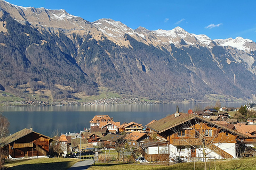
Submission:
POLYGON ((169 129, 175 127, 175 126, 178 126, 182 123, 193 120, 194 118, 197 118, 197 119, 202 120, 204 122, 214 124, 214 125, 216 125, 217 127, 221 128, 221 129, 225 129, 225 130, 227 130, 231 133, 240 135, 241 137, 248 138, 248 135, 245 135, 243 133, 231 130, 230 128, 227 128, 223 125, 220 125, 220 124, 217 124, 217 123, 212 122, 210 120, 207 120, 206 118, 203 118, 203 117, 197 116, 197 115, 186 114, 186 113, 179 113, 179 116, 177 116, 177 117, 175 117, 175 114, 172 114, 170 116, 166 116, 166 117, 162 118, 159 121, 156 121, 154 123, 149 124, 147 127, 156 131, 156 132, 158 132, 158 133, 161 133, 161 132, 169 130, 169 129))

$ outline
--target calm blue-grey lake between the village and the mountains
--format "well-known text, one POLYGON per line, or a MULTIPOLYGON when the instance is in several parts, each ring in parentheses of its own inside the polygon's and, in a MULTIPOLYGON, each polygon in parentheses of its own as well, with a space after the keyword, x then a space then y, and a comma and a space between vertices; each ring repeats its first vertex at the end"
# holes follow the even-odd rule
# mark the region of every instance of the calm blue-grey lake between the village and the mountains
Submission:
MULTIPOLYGON (((215 103, 200 103, 202 108, 214 106, 215 103)), ((241 107, 244 103, 221 103, 221 106, 241 107)), ((10 121, 10 132, 15 133, 24 128, 47 136, 59 130, 60 133, 79 132, 90 128, 89 121, 95 115, 109 115, 115 122, 137 122, 145 126, 152 120, 159 120, 168 114, 179 111, 187 113, 195 103, 188 104, 138 104, 138 105, 83 105, 83 106, 20 106, 0 107, 0 111, 10 121)))

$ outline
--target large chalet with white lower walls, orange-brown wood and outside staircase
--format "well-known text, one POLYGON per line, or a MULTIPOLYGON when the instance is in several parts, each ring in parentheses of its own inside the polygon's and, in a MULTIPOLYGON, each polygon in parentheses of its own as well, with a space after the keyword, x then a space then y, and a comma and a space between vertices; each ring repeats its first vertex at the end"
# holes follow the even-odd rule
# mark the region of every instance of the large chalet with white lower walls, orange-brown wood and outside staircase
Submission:
POLYGON ((237 146, 247 135, 212 122, 202 116, 179 113, 150 123, 147 129, 168 141, 171 158, 182 157, 185 161, 205 155, 217 159, 239 157, 237 146))

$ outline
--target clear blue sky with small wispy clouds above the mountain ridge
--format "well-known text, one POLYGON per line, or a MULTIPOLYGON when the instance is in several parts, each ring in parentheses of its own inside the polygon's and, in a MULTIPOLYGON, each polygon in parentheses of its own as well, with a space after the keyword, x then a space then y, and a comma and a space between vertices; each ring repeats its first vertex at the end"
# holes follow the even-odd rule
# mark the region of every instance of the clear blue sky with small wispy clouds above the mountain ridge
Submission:
POLYGON ((256 1, 226 0, 7 0, 14 5, 64 9, 93 22, 102 18, 121 21, 132 29, 172 30, 181 27, 211 39, 243 37, 256 42, 256 1))

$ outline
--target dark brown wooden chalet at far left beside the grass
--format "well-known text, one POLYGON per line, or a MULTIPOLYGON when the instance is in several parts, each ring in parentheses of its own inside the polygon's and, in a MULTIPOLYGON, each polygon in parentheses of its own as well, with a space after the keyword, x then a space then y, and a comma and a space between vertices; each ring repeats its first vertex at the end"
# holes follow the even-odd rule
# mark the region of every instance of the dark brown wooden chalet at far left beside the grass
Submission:
POLYGON ((49 155, 53 140, 31 129, 23 129, 2 139, 0 147, 6 149, 9 158, 41 157, 49 155))

